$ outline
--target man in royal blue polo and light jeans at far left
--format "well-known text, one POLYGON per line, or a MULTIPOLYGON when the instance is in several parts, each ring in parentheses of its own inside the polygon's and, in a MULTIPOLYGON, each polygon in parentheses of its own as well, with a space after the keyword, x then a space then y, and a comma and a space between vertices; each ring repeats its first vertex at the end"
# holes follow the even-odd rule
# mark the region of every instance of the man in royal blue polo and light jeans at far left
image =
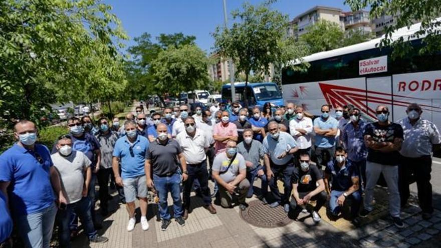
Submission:
POLYGON ((58 198, 59 205, 67 204, 60 178, 49 149, 35 144, 33 122, 18 122, 14 135, 18 142, 0 155, 0 190, 10 198, 7 202, 25 246, 49 247, 57 213, 54 202, 58 198))

